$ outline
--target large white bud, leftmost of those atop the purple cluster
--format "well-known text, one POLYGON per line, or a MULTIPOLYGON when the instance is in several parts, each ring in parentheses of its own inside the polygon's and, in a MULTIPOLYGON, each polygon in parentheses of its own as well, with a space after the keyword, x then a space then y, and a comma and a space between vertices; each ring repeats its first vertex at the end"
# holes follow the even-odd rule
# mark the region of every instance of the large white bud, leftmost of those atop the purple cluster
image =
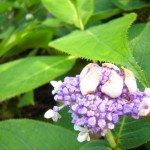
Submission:
POLYGON ((82 95, 95 93, 101 79, 101 68, 90 63, 80 73, 80 90, 82 95))

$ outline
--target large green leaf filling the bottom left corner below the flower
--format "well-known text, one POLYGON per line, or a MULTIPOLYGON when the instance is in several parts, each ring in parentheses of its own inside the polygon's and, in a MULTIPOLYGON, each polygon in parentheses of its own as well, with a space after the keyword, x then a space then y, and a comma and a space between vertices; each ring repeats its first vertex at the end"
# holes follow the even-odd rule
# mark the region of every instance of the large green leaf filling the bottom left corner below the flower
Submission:
POLYGON ((2 121, 0 131, 1 150, 78 150, 83 145, 76 133, 34 120, 2 121))

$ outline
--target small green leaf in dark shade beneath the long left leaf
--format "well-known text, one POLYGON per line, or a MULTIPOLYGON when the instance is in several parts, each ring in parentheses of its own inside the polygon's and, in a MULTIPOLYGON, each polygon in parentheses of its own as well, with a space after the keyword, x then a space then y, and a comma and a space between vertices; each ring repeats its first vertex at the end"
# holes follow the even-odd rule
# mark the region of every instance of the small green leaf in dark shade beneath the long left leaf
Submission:
POLYGON ((25 93, 19 100, 18 107, 24 107, 27 105, 34 105, 34 93, 29 91, 25 93))

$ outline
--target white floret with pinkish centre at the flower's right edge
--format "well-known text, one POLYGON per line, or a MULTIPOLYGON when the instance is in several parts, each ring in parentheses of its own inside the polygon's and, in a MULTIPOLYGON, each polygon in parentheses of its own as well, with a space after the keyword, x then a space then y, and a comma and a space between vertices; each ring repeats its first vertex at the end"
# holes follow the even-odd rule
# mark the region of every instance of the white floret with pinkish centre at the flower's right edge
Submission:
POLYGON ((150 98, 144 98, 139 106, 139 116, 147 116, 150 113, 150 98))

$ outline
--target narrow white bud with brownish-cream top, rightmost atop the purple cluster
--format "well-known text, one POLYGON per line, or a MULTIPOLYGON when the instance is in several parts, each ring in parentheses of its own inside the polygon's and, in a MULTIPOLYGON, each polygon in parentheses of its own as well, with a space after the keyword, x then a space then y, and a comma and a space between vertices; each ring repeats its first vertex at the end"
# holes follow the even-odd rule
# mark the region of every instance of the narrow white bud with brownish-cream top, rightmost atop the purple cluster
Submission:
POLYGON ((125 85, 130 93, 134 93, 137 90, 136 79, 132 71, 122 67, 125 78, 125 85))

